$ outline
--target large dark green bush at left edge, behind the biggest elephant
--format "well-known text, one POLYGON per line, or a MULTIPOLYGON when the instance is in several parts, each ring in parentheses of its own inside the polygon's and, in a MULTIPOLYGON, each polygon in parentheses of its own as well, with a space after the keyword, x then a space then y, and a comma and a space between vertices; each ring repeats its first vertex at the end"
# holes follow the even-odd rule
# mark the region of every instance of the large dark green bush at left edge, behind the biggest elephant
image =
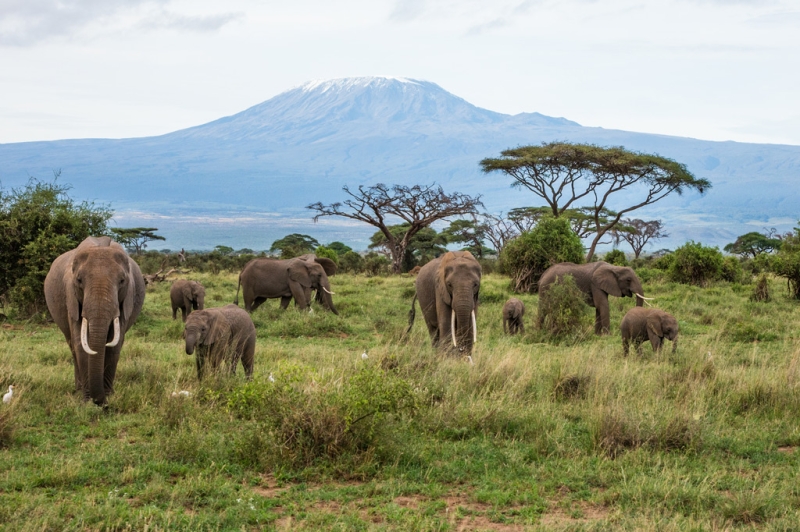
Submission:
POLYGON ((45 310, 44 278, 56 257, 107 231, 113 211, 75 203, 69 188, 31 179, 20 189, 0 189, 0 296, 8 295, 21 316, 45 310))

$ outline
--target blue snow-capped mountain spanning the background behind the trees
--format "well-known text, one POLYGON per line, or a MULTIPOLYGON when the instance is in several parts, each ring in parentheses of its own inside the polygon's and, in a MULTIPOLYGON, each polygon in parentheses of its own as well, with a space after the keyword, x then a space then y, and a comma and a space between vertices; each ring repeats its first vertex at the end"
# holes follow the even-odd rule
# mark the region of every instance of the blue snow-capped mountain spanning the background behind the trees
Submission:
MULTIPOLYGON (((163 247, 268 248, 289 233, 359 249, 365 226, 312 224, 304 207, 344 198, 343 185, 437 182, 482 194, 487 210, 540 205, 478 161, 551 140, 621 145, 676 159, 713 188, 670 198, 637 216, 664 220, 677 245, 723 245, 800 217, 800 147, 709 142, 583 127, 538 113, 476 107, 438 85, 404 78, 310 82, 233 116, 167 135, 0 144, 0 184, 62 170, 72 195, 110 203, 120 226, 153 225, 163 247)), ((612 206, 613 207, 613 206, 612 206)))

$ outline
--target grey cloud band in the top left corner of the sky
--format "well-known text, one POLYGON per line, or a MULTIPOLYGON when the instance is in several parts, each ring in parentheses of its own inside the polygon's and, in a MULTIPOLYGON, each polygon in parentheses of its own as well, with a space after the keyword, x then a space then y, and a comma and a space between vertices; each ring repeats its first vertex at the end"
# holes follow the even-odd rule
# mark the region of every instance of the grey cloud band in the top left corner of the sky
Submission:
POLYGON ((75 38, 92 25, 217 31, 242 15, 189 15, 167 11, 171 0, 2 0, 0 45, 30 46, 58 37, 75 38))

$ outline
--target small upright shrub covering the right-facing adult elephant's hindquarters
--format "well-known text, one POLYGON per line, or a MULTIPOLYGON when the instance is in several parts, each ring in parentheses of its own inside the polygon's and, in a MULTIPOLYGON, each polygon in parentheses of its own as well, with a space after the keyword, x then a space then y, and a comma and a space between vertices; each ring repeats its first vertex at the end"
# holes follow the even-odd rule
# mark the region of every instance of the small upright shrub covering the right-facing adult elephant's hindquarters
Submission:
POLYGON ((565 275, 539 297, 539 328, 556 337, 580 334, 587 308, 575 279, 565 275))

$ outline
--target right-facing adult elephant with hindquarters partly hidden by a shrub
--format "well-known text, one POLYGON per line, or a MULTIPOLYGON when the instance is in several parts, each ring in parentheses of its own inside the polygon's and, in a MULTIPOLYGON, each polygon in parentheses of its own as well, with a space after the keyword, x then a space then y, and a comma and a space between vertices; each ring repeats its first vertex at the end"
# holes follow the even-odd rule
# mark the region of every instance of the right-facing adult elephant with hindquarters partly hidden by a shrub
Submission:
MULTIPOLYGON (((644 303, 642 283, 633 269, 626 266, 613 266, 602 261, 588 264, 561 262, 550 266, 539 280, 539 300, 541 301, 542 295, 547 292, 550 285, 565 275, 571 275, 575 279, 575 284, 583 292, 586 303, 595 308, 595 334, 608 334, 611 328, 608 310, 609 295, 616 297, 633 297, 635 295, 637 307, 641 307, 644 303)), ((540 323, 543 318, 540 310, 540 323)))

